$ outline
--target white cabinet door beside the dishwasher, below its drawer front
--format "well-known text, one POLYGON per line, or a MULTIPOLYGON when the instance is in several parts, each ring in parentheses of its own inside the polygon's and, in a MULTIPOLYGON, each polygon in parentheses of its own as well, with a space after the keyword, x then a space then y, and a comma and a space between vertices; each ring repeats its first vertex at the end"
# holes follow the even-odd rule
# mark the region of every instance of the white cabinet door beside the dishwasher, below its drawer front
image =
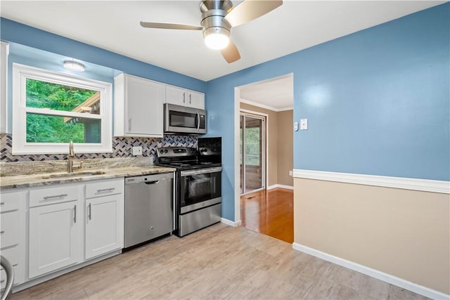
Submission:
POLYGON ((124 247, 124 194, 86 200, 86 259, 124 247))

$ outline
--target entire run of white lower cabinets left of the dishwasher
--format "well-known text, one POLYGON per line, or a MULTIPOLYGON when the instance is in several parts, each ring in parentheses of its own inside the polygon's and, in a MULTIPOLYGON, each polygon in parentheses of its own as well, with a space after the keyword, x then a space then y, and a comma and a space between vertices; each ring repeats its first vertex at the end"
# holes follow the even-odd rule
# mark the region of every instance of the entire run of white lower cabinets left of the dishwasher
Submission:
MULTIPOLYGON (((0 252, 13 265, 15 285, 45 281, 123 246, 124 178, 1 191, 0 252)), ((0 283, 3 289, 1 268, 0 283)))

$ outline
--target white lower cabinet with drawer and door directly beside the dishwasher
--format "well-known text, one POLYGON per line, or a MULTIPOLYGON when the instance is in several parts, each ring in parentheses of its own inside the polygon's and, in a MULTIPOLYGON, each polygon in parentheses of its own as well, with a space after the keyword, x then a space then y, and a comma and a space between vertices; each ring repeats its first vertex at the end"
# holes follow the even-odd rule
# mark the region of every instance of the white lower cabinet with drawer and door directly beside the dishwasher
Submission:
POLYGON ((124 247, 123 178, 86 184, 85 236, 86 259, 124 247))

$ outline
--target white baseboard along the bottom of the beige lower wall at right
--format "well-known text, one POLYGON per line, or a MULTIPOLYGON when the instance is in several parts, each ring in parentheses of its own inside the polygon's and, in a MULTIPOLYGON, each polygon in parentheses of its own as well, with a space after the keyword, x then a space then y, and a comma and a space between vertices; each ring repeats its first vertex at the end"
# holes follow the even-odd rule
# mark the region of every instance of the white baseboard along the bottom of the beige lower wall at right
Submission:
POLYGON ((417 285, 416 283, 410 282, 408 280, 404 280, 398 278, 396 276, 383 273, 379 270, 375 270, 373 268, 369 268, 359 263, 354 263, 353 261, 347 261, 347 259, 341 259, 338 256, 334 256, 325 252, 321 252, 319 250, 304 246, 302 244, 298 244, 296 242, 293 243, 293 249, 298 250, 300 252, 304 252, 310 254, 312 256, 319 257, 320 259, 330 261, 339 266, 343 266, 345 268, 349 268, 351 270, 356 270, 356 272, 366 274, 378 280, 383 280, 385 282, 390 283, 391 285, 397 285, 397 287, 402 287, 404 289, 408 289, 411 292, 415 292, 416 294, 420 294, 423 296, 427 296, 432 299, 450 299, 450 295, 444 294, 442 292, 435 291, 434 289, 430 289, 428 287, 423 287, 422 285, 417 285))

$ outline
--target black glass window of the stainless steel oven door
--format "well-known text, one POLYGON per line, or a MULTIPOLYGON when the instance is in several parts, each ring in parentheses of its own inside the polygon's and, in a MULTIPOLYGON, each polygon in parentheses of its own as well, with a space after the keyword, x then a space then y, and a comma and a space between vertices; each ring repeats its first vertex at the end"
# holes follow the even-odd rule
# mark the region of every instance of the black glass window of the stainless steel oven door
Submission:
POLYGON ((181 207, 221 197, 221 172, 181 176, 181 207))

